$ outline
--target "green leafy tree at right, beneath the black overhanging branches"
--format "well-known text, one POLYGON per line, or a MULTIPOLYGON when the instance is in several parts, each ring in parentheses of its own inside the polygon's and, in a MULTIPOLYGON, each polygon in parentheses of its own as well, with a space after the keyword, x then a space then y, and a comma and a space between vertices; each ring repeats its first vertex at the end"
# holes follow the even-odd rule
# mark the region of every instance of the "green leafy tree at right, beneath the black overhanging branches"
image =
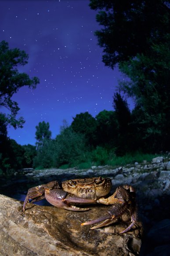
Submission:
POLYGON ((135 59, 122 63, 121 70, 131 79, 120 86, 135 99, 134 123, 145 140, 145 147, 151 151, 169 150, 169 42, 151 45, 147 55, 137 55, 135 59))

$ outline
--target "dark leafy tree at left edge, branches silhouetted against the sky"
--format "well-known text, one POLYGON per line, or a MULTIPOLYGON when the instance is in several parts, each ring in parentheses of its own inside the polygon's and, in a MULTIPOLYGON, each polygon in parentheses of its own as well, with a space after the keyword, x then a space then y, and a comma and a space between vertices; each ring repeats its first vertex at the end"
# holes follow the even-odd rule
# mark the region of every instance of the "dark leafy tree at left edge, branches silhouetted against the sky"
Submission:
POLYGON ((9 49, 8 43, 0 42, 0 106, 7 108, 10 113, 1 113, 1 118, 5 124, 10 124, 14 128, 22 128, 24 124, 23 117, 17 119, 19 110, 18 103, 12 100, 12 96, 23 86, 36 88, 39 83, 37 77, 29 78, 26 73, 19 73, 17 67, 24 66, 28 62, 28 55, 25 51, 17 48, 9 49))

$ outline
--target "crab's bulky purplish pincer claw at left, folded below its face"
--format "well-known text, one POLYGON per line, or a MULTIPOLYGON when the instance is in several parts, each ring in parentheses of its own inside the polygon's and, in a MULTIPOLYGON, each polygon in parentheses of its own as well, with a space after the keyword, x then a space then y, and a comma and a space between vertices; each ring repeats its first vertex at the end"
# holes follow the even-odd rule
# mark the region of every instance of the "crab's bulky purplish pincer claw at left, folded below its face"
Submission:
POLYGON ((89 208, 80 208, 76 207, 75 205, 71 205, 70 202, 72 203, 92 203, 94 200, 87 200, 83 198, 79 198, 77 196, 73 196, 70 198, 66 198, 67 192, 60 188, 55 188, 53 190, 46 189, 45 190, 45 198, 46 200, 51 203, 52 205, 58 207, 58 208, 64 208, 66 210, 70 211, 87 211, 89 208))

